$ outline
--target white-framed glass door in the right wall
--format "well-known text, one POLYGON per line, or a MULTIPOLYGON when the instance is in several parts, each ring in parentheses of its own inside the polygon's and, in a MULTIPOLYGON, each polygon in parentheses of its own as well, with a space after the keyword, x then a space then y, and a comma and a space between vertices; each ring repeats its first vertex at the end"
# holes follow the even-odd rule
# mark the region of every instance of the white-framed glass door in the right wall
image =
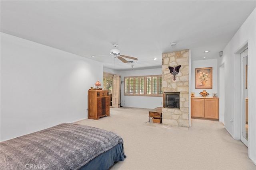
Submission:
POLYGON ((240 140, 248 147, 248 48, 240 53, 240 140))

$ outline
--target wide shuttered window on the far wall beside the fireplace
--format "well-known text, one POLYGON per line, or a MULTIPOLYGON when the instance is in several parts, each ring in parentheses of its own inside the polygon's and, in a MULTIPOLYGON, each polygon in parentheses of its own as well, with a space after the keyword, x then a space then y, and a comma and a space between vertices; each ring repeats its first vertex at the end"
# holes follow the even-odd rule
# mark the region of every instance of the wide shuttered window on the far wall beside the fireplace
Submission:
POLYGON ((124 95, 162 96, 162 75, 124 77, 124 95))

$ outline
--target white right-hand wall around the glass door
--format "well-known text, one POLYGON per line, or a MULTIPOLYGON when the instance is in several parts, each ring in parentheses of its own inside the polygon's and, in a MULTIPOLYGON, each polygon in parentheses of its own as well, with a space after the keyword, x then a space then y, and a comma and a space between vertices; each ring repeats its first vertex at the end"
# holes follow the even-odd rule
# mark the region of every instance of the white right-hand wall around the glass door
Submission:
POLYGON ((218 59, 225 64, 225 128, 240 139, 240 55, 234 54, 248 42, 248 129, 249 158, 256 164, 256 8, 242 24, 218 59), (233 120, 233 124, 230 122, 233 120))

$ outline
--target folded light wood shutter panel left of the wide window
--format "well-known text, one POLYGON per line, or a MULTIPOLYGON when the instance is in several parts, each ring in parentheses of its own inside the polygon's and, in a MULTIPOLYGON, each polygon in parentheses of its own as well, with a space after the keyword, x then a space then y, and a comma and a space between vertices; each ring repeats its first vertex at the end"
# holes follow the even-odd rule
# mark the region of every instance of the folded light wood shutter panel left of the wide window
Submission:
POLYGON ((112 89, 112 107, 120 108, 121 97, 121 76, 113 76, 113 89, 112 89))

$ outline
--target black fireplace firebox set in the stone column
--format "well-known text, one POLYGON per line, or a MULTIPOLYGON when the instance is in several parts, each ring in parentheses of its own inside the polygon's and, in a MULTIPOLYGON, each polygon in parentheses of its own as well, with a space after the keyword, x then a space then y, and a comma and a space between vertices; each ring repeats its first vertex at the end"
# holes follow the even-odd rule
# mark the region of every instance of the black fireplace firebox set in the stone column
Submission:
POLYGON ((180 92, 163 93, 164 108, 180 109, 180 92))

